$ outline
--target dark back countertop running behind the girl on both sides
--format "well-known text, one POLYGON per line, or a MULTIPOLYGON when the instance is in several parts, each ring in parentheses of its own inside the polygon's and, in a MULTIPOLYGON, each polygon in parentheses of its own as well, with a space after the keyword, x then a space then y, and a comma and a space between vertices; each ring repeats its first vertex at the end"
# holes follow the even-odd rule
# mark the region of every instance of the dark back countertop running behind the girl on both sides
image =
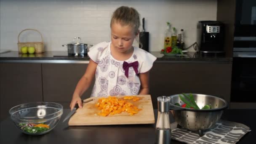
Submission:
MULTIPOLYGON (((195 52, 188 52, 184 56, 164 56, 158 51, 150 52, 157 57, 156 62, 161 63, 232 63, 231 57, 202 56, 195 52)), ((67 51, 46 51, 38 54, 21 54, 18 51, 0 53, 0 62, 21 63, 88 63, 89 57, 67 56, 67 51)))

